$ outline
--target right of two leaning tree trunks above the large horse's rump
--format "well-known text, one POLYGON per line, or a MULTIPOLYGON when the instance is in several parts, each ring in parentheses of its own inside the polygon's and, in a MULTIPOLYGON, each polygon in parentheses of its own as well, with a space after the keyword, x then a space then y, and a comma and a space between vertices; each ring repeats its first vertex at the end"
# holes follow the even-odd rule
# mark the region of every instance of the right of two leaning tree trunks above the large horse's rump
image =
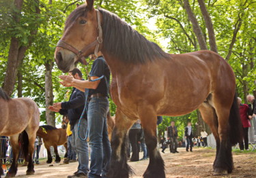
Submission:
POLYGON ((208 29, 208 36, 209 36, 209 44, 210 49, 214 52, 218 53, 218 48, 216 45, 216 39, 215 39, 215 33, 214 33, 214 27, 212 24, 212 19, 208 13, 208 10, 205 7, 205 3, 203 0, 198 0, 201 12, 203 14, 203 19, 205 20, 205 26, 208 29))

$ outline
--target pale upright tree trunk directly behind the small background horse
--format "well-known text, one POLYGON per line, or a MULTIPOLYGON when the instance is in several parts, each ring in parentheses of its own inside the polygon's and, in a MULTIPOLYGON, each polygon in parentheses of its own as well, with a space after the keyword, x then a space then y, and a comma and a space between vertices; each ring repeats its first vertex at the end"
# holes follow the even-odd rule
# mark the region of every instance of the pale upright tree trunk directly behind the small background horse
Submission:
POLYGON ((48 109, 50 105, 53 105, 53 80, 52 70, 53 62, 44 63, 45 72, 45 106, 46 106, 46 122, 48 125, 55 126, 55 113, 48 109))

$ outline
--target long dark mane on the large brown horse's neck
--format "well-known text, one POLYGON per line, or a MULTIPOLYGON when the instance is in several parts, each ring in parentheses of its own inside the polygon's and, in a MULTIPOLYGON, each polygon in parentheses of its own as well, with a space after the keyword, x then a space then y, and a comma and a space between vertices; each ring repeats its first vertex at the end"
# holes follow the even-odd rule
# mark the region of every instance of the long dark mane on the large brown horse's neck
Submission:
POLYGON ((100 9, 103 17, 104 49, 126 63, 146 63, 156 58, 169 58, 156 43, 148 41, 117 15, 100 9))

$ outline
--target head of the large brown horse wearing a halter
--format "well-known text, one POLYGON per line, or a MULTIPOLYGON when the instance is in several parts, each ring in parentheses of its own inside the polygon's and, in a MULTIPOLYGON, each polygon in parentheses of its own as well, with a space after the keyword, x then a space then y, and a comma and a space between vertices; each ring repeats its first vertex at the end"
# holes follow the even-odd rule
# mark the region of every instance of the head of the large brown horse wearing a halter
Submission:
POLYGON ((64 34, 55 50, 55 61, 59 69, 68 72, 76 63, 86 64, 85 57, 98 53, 102 43, 100 12, 94 9, 94 0, 86 0, 66 20, 64 34))

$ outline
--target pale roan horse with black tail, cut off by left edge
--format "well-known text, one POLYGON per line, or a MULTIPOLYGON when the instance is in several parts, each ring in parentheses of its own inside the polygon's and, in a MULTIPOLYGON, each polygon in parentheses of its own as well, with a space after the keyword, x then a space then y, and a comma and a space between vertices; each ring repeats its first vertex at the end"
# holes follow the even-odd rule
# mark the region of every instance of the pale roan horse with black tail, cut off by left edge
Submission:
MULTIPOLYGON (((12 144, 13 160, 5 177, 15 177, 18 170, 19 143, 25 159, 29 162, 27 175, 35 173, 33 166, 33 152, 40 122, 38 105, 28 98, 10 99, 0 88, 0 135, 10 136, 12 144)), ((0 177, 3 173, 0 161, 0 177)))

